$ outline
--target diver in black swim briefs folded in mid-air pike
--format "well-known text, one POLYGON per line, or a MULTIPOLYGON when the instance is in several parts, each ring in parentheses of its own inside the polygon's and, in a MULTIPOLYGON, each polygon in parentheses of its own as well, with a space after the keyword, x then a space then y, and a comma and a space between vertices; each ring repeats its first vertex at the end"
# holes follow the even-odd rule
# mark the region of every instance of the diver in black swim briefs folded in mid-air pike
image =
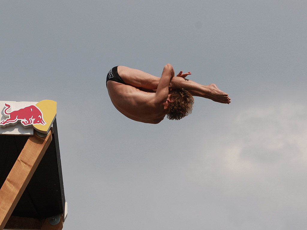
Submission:
POLYGON ((165 65, 161 78, 137 69, 116 66, 107 74, 107 89, 115 108, 126 117, 157 124, 167 115, 180 120, 192 112, 193 96, 230 103, 228 94, 215 84, 200 85, 185 79, 191 73, 175 76, 172 65, 165 65))

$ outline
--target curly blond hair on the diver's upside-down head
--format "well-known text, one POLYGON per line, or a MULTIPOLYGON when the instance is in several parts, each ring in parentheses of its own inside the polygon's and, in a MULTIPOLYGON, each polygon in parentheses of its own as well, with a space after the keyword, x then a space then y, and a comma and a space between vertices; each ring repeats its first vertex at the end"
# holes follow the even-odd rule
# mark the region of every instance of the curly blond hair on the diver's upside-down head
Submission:
POLYGON ((169 99, 172 101, 169 103, 167 113, 169 120, 180 120, 192 113, 194 98, 188 90, 182 88, 173 90, 169 99))

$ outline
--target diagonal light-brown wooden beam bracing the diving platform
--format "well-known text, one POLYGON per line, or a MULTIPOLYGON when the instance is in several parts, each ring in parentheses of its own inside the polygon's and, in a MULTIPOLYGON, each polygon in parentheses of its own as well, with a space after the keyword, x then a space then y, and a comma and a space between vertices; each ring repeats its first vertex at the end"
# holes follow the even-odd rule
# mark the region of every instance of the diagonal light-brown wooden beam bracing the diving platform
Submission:
POLYGON ((12 170, 0 189, 0 230, 9 220, 33 173, 43 158, 52 139, 51 132, 45 137, 30 136, 12 170))

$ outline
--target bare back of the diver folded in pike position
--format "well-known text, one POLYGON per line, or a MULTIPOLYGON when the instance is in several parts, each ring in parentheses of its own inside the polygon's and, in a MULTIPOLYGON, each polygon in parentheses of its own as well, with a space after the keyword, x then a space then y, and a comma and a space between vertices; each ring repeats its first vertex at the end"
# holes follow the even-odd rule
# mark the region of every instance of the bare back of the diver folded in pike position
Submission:
POLYGON ((164 105, 155 102, 154 93, 114 81, 107 82, 107 89, 115 108, 126 117, 151 124, 163 120, 164 105))

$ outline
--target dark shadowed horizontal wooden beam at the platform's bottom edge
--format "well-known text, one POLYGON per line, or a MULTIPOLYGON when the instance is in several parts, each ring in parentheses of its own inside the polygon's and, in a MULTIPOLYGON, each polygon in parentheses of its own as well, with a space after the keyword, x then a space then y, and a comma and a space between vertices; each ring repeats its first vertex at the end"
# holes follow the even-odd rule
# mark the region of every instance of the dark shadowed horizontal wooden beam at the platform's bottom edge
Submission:
POLYGON ((43 220, 39 221, 35 218, 10 216, 4 229, 22 229, 22 230, 40 230, 43 220))

